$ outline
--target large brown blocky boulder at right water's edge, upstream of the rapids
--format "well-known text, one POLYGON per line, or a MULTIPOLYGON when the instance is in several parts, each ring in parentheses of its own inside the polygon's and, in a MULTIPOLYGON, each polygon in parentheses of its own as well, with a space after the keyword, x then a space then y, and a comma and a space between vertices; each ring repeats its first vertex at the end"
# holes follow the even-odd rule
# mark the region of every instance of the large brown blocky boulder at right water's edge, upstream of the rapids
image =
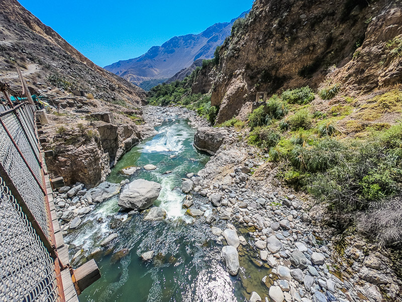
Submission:
POLYGON ((214 155, 228 135, 229 132, 222 128, 198 128, 194 135, 194 147, 214 155))

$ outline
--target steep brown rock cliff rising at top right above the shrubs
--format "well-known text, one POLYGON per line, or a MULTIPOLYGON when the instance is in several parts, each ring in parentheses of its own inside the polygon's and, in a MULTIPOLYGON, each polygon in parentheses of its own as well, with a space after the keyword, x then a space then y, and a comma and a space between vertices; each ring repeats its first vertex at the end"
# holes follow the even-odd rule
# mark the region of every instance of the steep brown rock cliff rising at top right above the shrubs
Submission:
POLYGON ((400 82, 401 34, 396 0, 257 0, 220 51, 212 93, 217 123, 244 117, 257 92, 335 81, 357 94, 400 82))

